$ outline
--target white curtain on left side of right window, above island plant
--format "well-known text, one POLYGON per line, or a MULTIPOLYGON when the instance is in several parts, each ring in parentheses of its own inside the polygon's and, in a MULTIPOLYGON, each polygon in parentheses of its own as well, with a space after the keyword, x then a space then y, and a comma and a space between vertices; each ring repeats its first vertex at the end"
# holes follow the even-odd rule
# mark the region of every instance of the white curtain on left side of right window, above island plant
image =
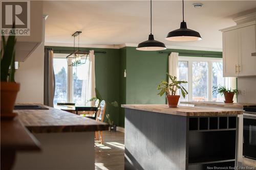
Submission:
MULTIPOLYGON (((179 71, 178 71, 178 57, 179 53, 170 53, 169 55, 169 75, 179 77, 179 71)), ((169 79, 170 82, 170 79, 169 79)))

